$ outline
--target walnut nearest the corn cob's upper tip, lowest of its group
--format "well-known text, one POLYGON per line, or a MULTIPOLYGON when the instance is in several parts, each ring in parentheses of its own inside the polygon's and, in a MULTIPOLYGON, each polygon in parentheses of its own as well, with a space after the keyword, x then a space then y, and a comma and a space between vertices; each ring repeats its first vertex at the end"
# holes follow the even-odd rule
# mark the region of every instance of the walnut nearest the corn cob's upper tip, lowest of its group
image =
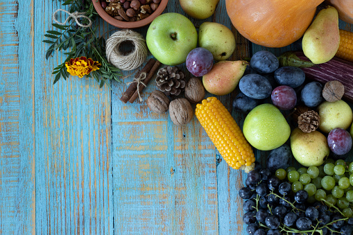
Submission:
POLYGON ((169 104, 169 115, 175 125, 184 125, 191 121, 193 109, 186 98, 177 98, 169 104))

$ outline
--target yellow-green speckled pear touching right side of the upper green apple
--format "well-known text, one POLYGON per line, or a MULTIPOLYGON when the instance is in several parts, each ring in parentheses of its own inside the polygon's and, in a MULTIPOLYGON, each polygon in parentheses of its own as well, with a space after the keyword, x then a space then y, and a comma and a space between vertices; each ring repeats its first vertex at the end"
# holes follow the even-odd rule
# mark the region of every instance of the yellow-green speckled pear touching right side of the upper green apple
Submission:
POLYGON ((211 51, 214 60, 227 60, 235 49, 235 37, 223 24, 204 22, 198 28, 198 44, 211 51))

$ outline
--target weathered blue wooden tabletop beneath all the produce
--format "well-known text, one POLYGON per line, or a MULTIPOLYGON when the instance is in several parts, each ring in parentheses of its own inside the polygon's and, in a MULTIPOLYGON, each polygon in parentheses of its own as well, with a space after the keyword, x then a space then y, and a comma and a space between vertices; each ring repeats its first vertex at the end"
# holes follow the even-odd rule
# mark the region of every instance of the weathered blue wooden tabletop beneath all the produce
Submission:
MULTIPOLYGON (((65 57, 45 60, 42 40, 61 4, 0 1, 0 234, 246 234, 237 196, 245 174, 227 166, 196 117, 176 126, 145 102, 122 103, 132 76, 112 89, 78 77, 53 85, 65 57)), ((186 15, 178 0, 164 12, 186 15)), ((224 0, 212 17, 189 19, 232 28, 224 0)), ((117 30, 98 23, 101 35, 117 30)), ((231 60, 264 49, 232 31, 231 60)), ((272 51, 288 49, 298 45, 272 51)), ((235 94, 219 98, 230 109, 235 94)))

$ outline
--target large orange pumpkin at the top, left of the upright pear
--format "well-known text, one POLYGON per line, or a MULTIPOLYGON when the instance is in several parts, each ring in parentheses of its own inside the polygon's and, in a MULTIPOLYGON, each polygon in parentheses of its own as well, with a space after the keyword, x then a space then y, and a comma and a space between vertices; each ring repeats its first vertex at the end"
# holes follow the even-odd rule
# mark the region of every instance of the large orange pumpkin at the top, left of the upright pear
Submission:
POLYGON ((225 0, 225 6, 243 37, 261 46, 282 47, 304 35, 323 1, 225 0))

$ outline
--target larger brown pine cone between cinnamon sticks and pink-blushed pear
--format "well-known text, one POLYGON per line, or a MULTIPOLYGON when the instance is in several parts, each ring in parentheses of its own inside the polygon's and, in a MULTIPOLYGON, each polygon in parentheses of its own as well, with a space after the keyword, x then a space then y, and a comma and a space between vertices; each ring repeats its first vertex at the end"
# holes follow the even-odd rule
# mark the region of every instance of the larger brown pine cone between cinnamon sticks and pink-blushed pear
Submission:
POLYGON ((184 73, 178 67, 165 66, 158 70, 157 88, 167 96, 178 96, 185 87, 184 73))

